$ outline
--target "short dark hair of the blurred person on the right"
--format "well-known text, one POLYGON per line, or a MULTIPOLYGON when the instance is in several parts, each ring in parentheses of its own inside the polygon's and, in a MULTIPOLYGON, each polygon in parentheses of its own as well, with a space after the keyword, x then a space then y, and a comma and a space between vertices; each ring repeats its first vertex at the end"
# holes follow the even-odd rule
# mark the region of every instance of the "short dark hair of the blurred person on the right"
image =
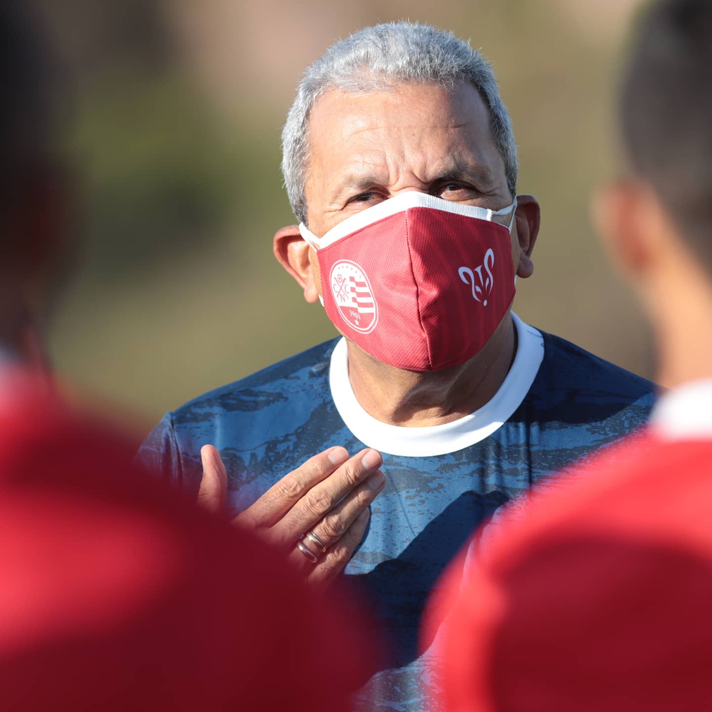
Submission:
POLYGON ((712 267, 711 0, 661 0, 646 9, 619 107, 632 168, 712 267))

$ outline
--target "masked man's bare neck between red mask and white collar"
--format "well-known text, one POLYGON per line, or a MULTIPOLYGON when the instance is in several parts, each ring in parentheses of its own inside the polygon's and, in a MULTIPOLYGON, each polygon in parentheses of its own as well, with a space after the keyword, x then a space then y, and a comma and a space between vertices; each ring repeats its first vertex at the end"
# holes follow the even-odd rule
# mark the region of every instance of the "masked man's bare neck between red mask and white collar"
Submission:
POLYGON ((423 427, 452 422, 486 404, 511 368, 517 334, 508 313, 469 361, 424 373, 386 365, 352 342, 347 345, 349 380, 362 408, 382 423, 423 427))

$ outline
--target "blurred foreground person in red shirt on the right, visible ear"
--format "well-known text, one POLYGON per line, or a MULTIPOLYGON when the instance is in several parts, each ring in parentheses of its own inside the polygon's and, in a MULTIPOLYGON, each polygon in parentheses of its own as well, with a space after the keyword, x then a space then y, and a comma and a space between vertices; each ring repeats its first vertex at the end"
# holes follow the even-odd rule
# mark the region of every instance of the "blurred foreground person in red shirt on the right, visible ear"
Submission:
POLYGON ((627 175, 595 214, 671 390, 642 439, 504 517, 465 577, 453 565, 424 635, 433 709, 712 709, 711 73, 712 4, 651 4, 619 101, 627 175))

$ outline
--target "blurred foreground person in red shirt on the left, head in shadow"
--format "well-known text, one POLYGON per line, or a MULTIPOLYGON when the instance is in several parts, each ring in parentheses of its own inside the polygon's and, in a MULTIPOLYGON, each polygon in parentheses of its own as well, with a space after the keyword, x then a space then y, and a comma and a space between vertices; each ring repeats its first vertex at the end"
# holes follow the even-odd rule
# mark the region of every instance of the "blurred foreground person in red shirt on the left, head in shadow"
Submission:
POLYGON ((19 3, 0 3, 0 55, 1 707, 343 708, 367 677, 362 621, 136 471, 135 439, 53 389, 43 325, 75 232, 56 65, 19 3), (338 659, 323 656, 330 635, 350 641, 338 659))

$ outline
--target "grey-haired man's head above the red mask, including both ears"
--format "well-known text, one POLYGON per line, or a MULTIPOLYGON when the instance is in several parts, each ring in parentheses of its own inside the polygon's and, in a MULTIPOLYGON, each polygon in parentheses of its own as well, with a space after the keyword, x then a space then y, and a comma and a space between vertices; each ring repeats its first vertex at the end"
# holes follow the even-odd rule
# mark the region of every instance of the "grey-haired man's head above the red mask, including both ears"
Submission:
MULTIPOLYGON (((491 67, 430 26, 388 23, 335 43, 306 70, 282 138, 290 204, 316 236, 408 191, 492 210, 516 193, 516 145, 491 67)), ((520 196, 511 241, 521 277, 533 271, 538 219, 535 199, 520 196)), ((278 232, 275 252, 315 302, 318 260, 295 226, 278 232)))

